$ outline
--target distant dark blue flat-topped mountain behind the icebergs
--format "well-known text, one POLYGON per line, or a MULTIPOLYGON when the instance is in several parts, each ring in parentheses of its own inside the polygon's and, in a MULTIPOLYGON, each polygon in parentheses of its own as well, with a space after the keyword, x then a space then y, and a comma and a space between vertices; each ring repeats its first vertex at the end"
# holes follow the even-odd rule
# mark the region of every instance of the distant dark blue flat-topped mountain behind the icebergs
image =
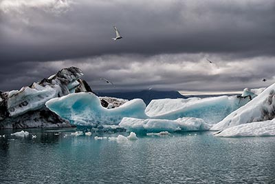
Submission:
POLYGON ((186 99, 177 91, 142 90, 135 92, 97 92, 98 96, 111 96, 120 99, 142 99, 146 105, 153 99, 186 99))

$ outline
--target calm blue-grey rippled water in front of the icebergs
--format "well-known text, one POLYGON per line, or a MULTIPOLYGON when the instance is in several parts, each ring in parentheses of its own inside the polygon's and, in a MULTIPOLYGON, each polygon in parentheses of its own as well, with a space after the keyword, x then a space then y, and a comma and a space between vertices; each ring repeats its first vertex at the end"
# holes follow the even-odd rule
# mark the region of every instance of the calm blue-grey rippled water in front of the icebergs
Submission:
POLYGON ((0 183, 275 183, 275 137, 191 132, 117 142, 28 131, 37 138, 0 138, 0 183))

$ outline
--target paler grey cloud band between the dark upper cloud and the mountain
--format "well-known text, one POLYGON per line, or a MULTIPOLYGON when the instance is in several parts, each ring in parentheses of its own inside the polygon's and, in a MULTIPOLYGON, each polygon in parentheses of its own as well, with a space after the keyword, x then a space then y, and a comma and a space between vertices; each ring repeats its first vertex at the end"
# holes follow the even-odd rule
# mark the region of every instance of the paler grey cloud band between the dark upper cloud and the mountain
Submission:
POLYGON ((1 76, 0 86, 10 90, 17 86, 19 89, 22 85, 30 85, 33 81, 39 81, 71 65, 82 68, 85 74, 83 79, 87 80, 95 91, 148 88, 239 91, 246 87, 265 87, 275 82, 272 70, 275 68, 274 57, 236 60, 230 60, 228 57, 230 61, 227 60, 225 63, 219 55, 212 55, 215 65, 208 63, 206 57, 208 55, 205 54, 160 54, 153 57, 126 54, 66 61, 28 62, 17 64, 20 70, 16 71, 16 77, 8 72, 1 76), (116 88, 101 81, 100 77, 113 81, 116 88), (267 82, 263 83, 263 78, 267 79, 267 82))

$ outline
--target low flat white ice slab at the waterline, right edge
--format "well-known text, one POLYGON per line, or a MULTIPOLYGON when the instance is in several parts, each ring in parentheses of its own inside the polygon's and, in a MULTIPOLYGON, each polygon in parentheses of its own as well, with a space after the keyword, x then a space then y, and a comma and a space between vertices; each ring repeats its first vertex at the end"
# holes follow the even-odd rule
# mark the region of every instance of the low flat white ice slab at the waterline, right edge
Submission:
POLYGON ((275 136, 275 120, 236 125, 214 136, 275 136))

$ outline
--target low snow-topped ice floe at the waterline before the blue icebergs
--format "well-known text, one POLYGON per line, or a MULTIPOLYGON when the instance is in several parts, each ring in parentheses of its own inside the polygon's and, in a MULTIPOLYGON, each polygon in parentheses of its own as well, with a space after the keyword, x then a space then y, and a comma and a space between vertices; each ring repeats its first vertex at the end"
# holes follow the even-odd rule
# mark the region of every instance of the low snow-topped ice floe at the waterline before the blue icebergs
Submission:
POLYGON ((180 118, 176 120, 166 119, 133 119, 123 118, 120 122, 120 127, 126 130, 138 132, 175 132, 175 131, 199 131, 209 130, 211 125, 197 118, 180 118))

